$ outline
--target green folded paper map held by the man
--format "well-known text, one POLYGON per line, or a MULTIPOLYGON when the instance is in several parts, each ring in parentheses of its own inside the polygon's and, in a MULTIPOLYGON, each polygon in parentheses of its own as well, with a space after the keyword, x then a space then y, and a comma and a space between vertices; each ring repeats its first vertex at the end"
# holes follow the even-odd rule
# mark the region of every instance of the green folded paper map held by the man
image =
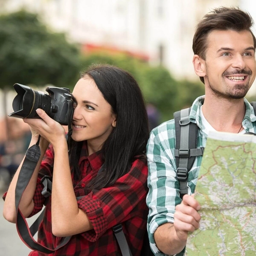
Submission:
POLYGON ((256 255, 256 136, 210 132, 195 189, 200 228, 187 256, 256 255))

